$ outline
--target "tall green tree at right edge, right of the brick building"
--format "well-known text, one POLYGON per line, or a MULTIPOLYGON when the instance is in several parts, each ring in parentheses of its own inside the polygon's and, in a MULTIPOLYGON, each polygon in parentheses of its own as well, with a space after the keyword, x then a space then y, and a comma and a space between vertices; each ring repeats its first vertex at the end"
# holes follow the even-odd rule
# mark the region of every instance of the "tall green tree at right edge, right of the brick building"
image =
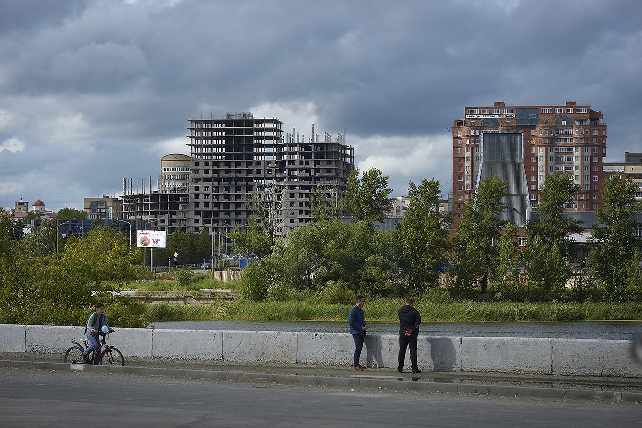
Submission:
POLYGON ((626 300, 626 290, 639 281, 639 250, 642 242, 637 237, 642 226, 635 213, 642 211, 636 201, 638 185, 631 179, 612 177, 604 181, 602 206, 595 210, 593 244, 588 267, 603 279, 603 295, 607 299, 626 300))

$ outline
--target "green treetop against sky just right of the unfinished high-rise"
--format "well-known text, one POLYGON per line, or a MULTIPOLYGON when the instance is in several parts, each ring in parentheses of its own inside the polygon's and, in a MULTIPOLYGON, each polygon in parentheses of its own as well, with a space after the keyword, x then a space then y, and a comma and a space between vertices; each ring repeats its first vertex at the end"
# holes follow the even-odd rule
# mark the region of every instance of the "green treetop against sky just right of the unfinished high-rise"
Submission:
POLYGON ((350 211, 356 222, 365 221, 371 226, 374 222, 383 222, 392 206, 388 175, 381 175, 381 170, 370 168, 361 179, 359 177, 358 168, 348 174, 343 200, 345 209, 350 211))

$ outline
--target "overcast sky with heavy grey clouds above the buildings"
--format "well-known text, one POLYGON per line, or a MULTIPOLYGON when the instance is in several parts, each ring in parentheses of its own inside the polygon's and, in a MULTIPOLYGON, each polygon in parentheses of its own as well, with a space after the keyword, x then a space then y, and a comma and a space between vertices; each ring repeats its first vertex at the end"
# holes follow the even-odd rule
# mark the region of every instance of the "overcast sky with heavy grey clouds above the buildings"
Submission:
POLYGON ((601 111, 642 152, 642 2, 0 0, 0 206, 82 210, 189 154, 187 119, 346 132, 394 196, 452 190, 467 105, 601 111))

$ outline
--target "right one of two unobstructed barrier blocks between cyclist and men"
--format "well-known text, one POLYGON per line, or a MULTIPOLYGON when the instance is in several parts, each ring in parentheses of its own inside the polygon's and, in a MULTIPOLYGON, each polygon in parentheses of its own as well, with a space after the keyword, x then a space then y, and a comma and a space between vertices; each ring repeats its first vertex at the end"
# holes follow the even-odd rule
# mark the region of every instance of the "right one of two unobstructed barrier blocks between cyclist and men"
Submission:
POLYGON ((223 361, 296 362, 294 332, 223 332, 223 361))

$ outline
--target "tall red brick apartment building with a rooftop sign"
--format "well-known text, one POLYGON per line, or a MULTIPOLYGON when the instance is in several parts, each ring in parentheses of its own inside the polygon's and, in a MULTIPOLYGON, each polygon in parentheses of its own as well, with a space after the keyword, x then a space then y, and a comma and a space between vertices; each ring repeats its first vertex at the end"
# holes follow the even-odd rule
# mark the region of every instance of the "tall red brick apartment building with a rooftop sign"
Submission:
POLYGON ((565 205, 566 211, 593 211, 601 202, 606 152, 606 125, 602 112, 590 105, 469 106, 464 119, 453 121, 453 227, 462 207, 478 186, 480 136, 485 132, 523 134, 523 163, 528 201, 539 203, 546 174, 569 172, 582 190, 565 205))

